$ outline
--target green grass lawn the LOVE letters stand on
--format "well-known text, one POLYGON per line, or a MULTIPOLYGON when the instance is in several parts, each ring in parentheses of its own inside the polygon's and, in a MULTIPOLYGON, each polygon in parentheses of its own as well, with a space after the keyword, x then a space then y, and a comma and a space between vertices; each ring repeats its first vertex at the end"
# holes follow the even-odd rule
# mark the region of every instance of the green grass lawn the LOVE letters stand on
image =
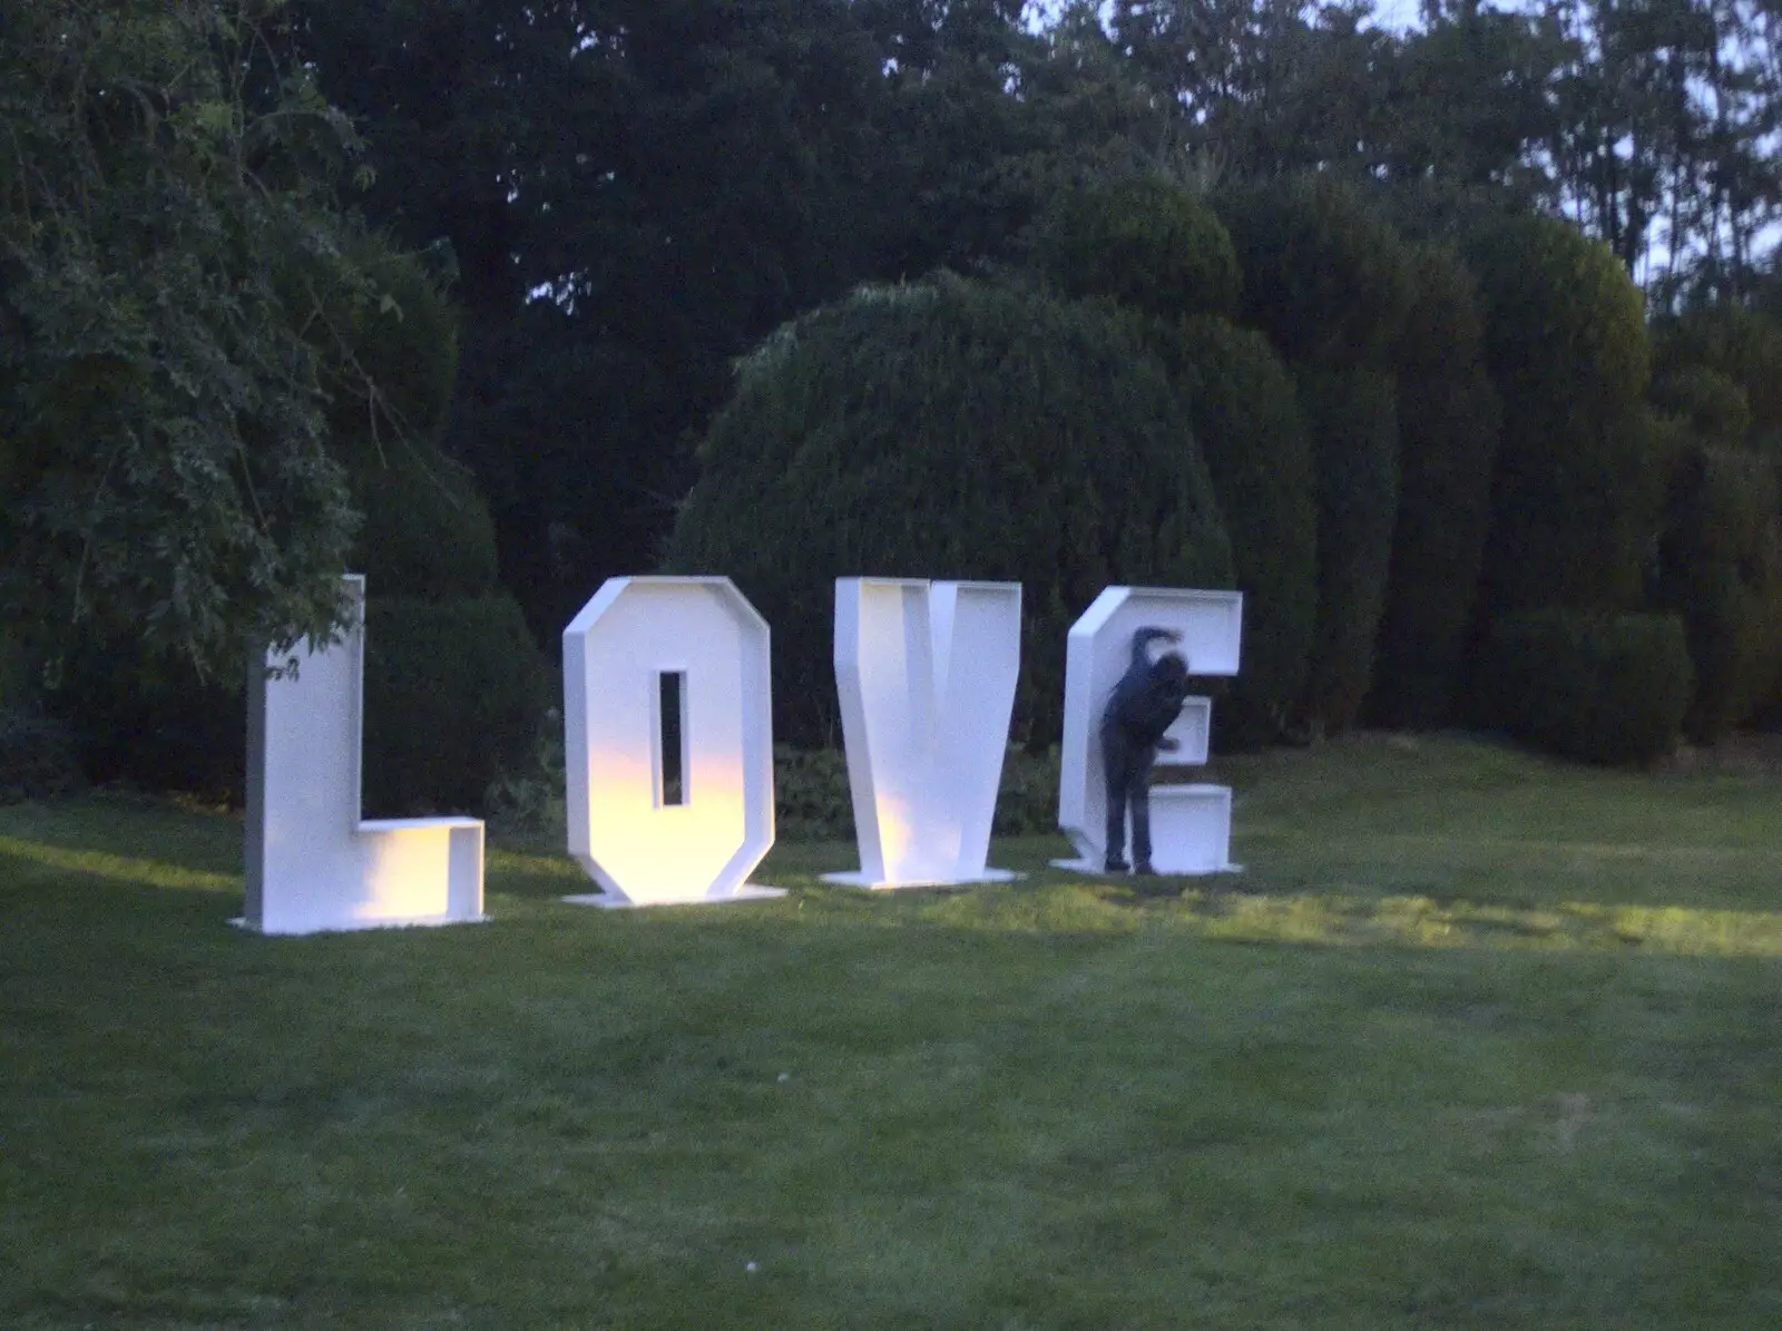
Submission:
POLYGON ((1221 766, 1237 878, 310 939, 4 809, 0 1326, 1782 1326, 1782 782, 1221 766))

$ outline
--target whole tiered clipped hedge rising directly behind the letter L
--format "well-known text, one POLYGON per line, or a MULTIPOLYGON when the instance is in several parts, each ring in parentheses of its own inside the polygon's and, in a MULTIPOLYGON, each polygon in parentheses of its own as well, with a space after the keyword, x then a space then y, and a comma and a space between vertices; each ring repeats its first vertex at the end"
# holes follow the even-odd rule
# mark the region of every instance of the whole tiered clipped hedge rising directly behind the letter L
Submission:
POLYGON ((364 378, 331 412, 365 520, 367 816, 476 812, 526 761, 551 702, 519 602, 495 588, 495 527, 446 458, 456 315, 406 257, 367 264, 378 298, 347 312, 364 378))

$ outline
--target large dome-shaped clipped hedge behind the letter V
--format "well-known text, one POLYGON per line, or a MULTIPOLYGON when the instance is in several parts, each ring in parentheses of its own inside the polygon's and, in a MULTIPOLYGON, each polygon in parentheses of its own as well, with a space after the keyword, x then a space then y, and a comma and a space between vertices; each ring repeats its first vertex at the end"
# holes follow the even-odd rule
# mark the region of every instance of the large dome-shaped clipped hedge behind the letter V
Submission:
POLYGON ((775 738, 838 738, 834 579, 1023 584, 1016 734, 1062 723, 1069 625, 1114 583, 1231 586, 1185 404, 1132 321, 1019 285, 870 287, 773 333, 699 451, 666 567, 773 625, 775 738))

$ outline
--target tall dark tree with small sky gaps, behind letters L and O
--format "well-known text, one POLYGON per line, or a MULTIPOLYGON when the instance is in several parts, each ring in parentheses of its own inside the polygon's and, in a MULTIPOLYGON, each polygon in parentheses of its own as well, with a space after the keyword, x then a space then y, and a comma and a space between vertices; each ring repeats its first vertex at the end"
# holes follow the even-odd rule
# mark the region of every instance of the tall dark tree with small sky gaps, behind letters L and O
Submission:
POLYGON ((372 144, 369 214, 458 257, 447 447, 544 640, 656 565, 736 356, 862 280, 1007 249, 1042 192, 1009 0, 296 5, 372 144))

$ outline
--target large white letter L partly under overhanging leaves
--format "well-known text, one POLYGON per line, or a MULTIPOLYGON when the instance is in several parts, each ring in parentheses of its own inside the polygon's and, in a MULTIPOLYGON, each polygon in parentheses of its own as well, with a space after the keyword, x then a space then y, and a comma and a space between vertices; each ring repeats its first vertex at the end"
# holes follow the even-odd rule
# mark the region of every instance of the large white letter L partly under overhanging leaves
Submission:
POLYGON ((360 818, 365 579, 351 576, 353 627, 317 650, 298 645, 296 677, 248 679, 248 902, 264 934, 483 918, 483 823, 360 818))

